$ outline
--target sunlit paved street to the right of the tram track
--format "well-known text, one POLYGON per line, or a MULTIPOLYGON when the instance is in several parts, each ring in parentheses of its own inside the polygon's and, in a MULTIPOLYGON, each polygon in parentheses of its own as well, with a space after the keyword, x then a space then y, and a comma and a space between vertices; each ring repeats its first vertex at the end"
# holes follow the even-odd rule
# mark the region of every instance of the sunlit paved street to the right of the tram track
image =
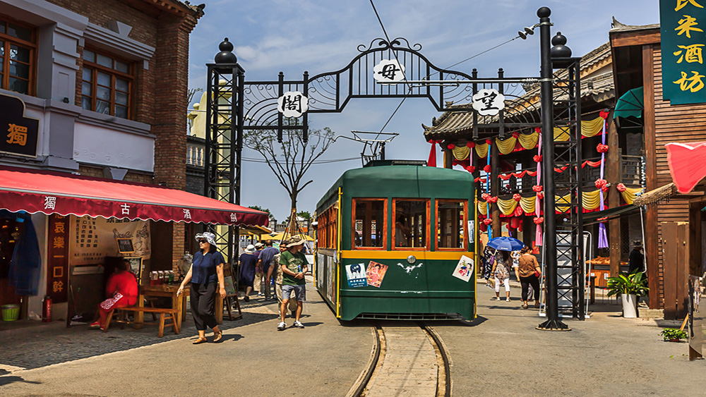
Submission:
POLYGON ((623 319, 620 306, 594 307, 592 319, 566 319, 572 331, 537 331, 543 319, 479 288, 478 319, 435 323, 448 348, 454 396, 704 395, 706 362, 686 343, 662 341, 654 321, 623 319))

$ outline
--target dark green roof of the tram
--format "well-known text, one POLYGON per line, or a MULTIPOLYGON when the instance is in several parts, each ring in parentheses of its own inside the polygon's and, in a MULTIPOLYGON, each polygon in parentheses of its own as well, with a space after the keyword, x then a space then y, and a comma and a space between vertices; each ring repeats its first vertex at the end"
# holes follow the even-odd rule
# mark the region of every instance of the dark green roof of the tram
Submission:
POLYGON ((339 187, 344 195, 357 197, 446 197, 472 196, 473 176, 467 171, 429 166, 367 166, 345 171, 316 204, 328 207, 339 187), (328 205, 327 205, 328 204, 328 205))

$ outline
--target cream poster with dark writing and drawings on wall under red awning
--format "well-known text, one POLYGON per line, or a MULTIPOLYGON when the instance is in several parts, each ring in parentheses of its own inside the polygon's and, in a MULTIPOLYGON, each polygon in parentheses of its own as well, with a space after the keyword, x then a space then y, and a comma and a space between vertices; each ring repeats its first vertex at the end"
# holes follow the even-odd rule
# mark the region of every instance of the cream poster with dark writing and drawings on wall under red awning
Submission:
POLYGON ((141 257, 150 259, 149 221, 105 219, 100 216, 71 216, 71 264, 102 264, 105 257, 141 257), (121 254, 118 239, 130 240, 131 251, 121 254))

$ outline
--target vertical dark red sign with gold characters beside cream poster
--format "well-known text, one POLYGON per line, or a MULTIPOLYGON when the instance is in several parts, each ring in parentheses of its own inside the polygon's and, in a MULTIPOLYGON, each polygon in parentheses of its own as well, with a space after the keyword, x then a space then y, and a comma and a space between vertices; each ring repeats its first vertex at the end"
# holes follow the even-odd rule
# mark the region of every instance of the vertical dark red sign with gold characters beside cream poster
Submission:
POLYGON ((47 295, 54 303, 68 301, 68 226, 66 216, 49 216, 47 295))

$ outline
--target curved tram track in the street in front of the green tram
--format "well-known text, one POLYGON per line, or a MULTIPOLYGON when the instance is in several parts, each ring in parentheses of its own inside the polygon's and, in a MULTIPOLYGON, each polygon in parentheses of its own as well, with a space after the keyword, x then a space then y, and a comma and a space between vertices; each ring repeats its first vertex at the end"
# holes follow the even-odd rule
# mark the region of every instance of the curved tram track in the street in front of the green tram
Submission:
POLYGON ((451 396, 450 356, 431 326, 377 323, 371 357, 347 397, 451 396))

